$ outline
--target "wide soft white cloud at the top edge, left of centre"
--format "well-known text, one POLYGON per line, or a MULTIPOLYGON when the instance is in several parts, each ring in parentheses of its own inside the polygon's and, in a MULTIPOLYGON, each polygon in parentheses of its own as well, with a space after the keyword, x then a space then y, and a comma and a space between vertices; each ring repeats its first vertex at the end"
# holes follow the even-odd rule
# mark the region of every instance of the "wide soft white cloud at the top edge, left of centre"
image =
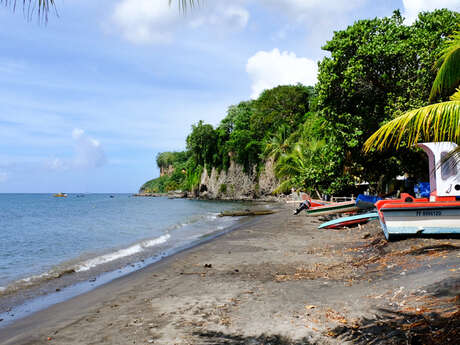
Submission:
POLYGON ((171 43, 176 31, 186 26, 241 30, 249 21, 249 12, 237 4, 217 1, 182 15, 174 1, 169 6, 167 0, 121 0, 111 19, 116 31, 132 43, 165 44, 171 43))

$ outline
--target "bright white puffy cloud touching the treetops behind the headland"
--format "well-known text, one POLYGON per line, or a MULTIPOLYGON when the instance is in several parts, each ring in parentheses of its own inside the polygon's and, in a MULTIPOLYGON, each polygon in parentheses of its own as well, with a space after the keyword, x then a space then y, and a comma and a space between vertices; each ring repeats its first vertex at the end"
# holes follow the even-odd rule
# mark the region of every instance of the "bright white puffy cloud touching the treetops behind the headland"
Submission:
POLYGON ((302 83, 314 85, 318 66, 315 61, 297 57, 292 52, 282 52, 275 48, 271 52, 259 51, 246 64, 246 72, 252 81, 252 98, 278 85, 302 83))

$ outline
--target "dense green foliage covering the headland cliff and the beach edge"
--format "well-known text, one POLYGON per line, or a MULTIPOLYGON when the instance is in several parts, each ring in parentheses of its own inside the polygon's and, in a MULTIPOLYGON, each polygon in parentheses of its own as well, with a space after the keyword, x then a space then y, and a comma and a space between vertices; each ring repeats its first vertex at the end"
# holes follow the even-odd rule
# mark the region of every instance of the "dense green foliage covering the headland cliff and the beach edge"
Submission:
POLYGON ((420 152, 363 154, 362 146, 382 124, 427 105, 433 65, 459 23, 459 13, 436 10, 407 26, 395 11, 335 32, 323 47, 330 56, 320 62, 314 88, 278 86, 230 106, 217 128, 193 125, 187 151, 158 156, 158 166, 174 172, 155 188, 196 189, 203 169, 227 169, 231 160, 247 171, 274 160, 278 192, 343 193, 364 181, 381 192, 404 173, 426 180, 420 152))

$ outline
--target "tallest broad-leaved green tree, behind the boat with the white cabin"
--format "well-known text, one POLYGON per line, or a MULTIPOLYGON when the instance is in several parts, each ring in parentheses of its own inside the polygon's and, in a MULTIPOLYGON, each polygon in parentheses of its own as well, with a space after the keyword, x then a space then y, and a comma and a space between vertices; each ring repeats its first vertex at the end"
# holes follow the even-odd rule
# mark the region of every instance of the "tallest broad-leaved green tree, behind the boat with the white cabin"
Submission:
POLYGON ((331 57, 320 63, 318 108, 341 148, 343 172, 372 182, 377 173, 392 177, 413 168, 389 153, 363 155, 361 148, 392 114, 426 104, 432 62, 459 21, 458 13, 437 10, 407 26, 395 11, 335 32, 323 47, 331 57))

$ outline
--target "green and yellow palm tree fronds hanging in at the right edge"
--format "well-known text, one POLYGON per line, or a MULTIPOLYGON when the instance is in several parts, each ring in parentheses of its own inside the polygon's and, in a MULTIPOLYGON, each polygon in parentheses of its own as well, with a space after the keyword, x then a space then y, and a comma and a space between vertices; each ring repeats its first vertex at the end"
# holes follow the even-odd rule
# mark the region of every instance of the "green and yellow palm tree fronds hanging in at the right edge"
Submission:
POLYGON ((450 156, 460 159, 460 32, 456 32, 441 52, 436 79, 430 100, 456 92, 450 100, 414 109, 380 127, 364 143, 364 151, 382 150, 390 146, 399 148, 425 141, 452 141, 459 145, 450 156))

